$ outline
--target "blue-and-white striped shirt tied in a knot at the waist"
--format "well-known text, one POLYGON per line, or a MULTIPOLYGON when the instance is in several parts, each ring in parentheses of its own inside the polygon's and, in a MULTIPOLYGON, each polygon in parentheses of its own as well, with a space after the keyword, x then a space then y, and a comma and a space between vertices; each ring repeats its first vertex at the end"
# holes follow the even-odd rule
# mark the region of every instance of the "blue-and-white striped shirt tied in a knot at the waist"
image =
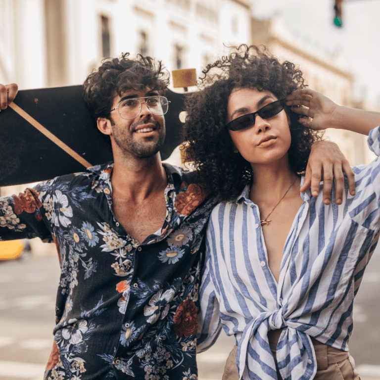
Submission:
MULTIPOLYGON (((371 131, 368 144, 379 156, 380 127, 371 131)), ((278 283, 268 267, 249 185, 236 201, 214 208, 200 292, 198 352, 212 345, 223 327, 237 339, 239 379, 277 379, 267 333, 283 329, 276 353, 282 378, 309 380, 317 371, 310 337, 348 351, 354 296, 379 238, 380 158, 353 170, 356 195, 349 194, 346 181, 341 205, 325 205, 322 186, 317 197, 310 190, 301 193, 278 283)))

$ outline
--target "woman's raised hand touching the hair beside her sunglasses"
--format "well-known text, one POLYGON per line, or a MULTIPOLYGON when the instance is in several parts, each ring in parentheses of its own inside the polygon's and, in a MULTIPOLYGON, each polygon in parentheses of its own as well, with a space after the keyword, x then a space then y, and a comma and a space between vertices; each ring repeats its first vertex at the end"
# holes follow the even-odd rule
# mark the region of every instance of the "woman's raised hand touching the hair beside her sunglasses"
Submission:
POLYGON ((306 116, 299 119, 305 127, 315 131, 335 127, 334 115, 339 106, 317 91, 310 89, 293 91, 286 97, 286 105, 292 107, 294 113, 306 116))

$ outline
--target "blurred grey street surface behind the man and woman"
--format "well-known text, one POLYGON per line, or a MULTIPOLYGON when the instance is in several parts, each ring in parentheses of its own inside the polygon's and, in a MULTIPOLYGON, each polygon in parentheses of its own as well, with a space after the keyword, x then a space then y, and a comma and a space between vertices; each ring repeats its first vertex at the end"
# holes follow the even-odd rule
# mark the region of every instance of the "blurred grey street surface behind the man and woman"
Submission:
MULTIPOLYGON (((0 379, 42 380, 52 345, 59 280, 55 255, 0 262, 0 379)), ((356 297, 349 347, 362 380, 380 380, 380 253, 356 297)), ((220 380, 235 338, 221 333, 198 355, 198 380, 220 380)))

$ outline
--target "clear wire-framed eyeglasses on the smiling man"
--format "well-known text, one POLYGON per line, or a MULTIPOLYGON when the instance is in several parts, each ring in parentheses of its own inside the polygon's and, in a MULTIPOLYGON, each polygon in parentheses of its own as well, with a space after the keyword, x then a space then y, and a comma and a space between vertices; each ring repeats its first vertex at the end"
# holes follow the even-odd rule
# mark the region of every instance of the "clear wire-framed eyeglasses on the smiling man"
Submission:
POLYGON ((110 112, 117 109, 123 119, 134 119, 140 115, 142 103, 147 105, 153 115, 161 116, 168 112, 170 101, 165 96, 160 95, 135 97, 120 101, 117 107, 111 109, 110 112), (145 99, 145 101, 140 99, 145 99))

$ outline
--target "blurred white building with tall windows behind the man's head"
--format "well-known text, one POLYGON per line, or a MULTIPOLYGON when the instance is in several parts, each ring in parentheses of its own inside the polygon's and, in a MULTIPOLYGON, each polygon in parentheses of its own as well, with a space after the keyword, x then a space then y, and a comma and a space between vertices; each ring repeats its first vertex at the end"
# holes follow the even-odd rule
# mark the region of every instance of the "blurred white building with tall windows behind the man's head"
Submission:
POLYGON ((83 83, 103 57, 151 55, 197 71, 250 42, 250 0, 0 0, 0 83, 83 83))

